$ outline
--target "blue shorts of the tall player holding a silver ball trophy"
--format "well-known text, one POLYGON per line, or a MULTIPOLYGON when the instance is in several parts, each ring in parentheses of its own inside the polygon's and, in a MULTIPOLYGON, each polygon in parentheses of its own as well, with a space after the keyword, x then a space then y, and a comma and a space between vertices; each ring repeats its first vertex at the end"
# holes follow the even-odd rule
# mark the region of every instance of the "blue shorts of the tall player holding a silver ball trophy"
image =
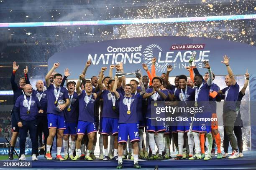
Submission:
POLYGON ((64 116, 47 113, 48 129, 55 128, 57 130, 66 129, 64 116))

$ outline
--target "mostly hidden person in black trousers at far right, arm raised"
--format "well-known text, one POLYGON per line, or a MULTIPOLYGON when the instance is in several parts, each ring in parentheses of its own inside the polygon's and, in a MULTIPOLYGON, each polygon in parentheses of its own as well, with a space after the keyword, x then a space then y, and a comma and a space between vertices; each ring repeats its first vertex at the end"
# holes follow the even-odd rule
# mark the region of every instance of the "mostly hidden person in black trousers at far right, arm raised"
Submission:
MULTIPOLYGON (((236 139, 238 143, 239 157, 243 157, 243 138, 242 138, 243 120, 241 119, 240 105, 241 105, 241 100, 245 94, 246 87, 248 86, 248 82, 249 82, 250 74, 248 73, 248 70, 246 70, 245 77, 246 77, 246 80, 244 81, 243 88, 238 93, 238 98, 236 102, 237 115, 236 115, 236 121, 234 124, 234 133, 236 135, 236 139)), ((223 158, 226 158, 228 156, 228 145, 229 145, 228 135, 225 133, 225 129, 224 129, 223 148, 224 148, 225 154, 223 155, 223 158)))

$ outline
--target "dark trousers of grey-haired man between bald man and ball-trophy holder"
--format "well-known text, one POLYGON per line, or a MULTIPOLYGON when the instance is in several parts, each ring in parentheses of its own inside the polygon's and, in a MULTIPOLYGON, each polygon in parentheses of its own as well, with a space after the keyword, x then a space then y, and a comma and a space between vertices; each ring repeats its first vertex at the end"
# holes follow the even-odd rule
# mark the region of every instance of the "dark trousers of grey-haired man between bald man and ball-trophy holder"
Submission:
MULTIPOLYGON (((44 155, 46 154, 46 143, 47 143, 47 138, 49 136, 49 129, 48 129, 48 121, 47 121, 47 116, 38 116, 37 117, 37 140, 39 137, 42 139, 42 132, 44 133, 44 155)), ((38 143, 38 141, 37 141, 38 143)))

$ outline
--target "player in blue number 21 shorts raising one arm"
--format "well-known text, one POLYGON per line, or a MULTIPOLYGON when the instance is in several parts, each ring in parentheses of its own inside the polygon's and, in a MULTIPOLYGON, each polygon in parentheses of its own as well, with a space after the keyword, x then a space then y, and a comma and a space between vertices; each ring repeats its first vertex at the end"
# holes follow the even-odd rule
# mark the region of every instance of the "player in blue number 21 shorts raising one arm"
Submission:
MULTIPOLYGON (((204 61, 204 68, 208 69, 209 78, 207 80, 207 83, 203 83, 203 77, 202 75, 196 74, 194 77, 194 83, 195 83, 195 107, 202 107, 202 112, 198 112, 196 115, 194 115, 196 118, 211 118, 212 112, 210 110, 210 103, 209 103, 209 94, 210 94, 210 86, 212 85, 212 71, 211 67, 208 61, 204 61)), ((200 148, 202 155, 199 154, 199 149, 197 149, 197 143, 195 143, 195 148, 198 156, 191 157, 191 159, 200 159, 204 158, 204 160, 210 160, 211 153, 208 152, 205 156, 205 133, 207 135, 208 140, 208 148, 212 148, 212 135, 211 135, 211 126, 209 125, 210 121, 198 121, 197 125, 193 125, 193 128, 198 128, 200 133, 200 148)), ((195 137, 194 137, 195 138, 195 137)))

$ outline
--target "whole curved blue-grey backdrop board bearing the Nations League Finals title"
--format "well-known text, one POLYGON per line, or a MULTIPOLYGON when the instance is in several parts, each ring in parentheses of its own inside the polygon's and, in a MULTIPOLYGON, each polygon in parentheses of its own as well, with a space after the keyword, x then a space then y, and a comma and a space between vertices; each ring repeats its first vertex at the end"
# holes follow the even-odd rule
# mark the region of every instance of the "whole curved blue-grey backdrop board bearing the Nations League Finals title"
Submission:
MULTIPOLYGON (((86 74, 86 78, 90 78, 92 75, 98 75, 101 67, 116 65, 119 62, 123 62, 124 72, 134 72, 138 68, 142 70, 142 63, 146 63, 150 69, 151 59, 156 57, 156 75, 166 72, 168 65, 174 68, 170 76, 188 75, 185 67, 189 66, 193 51, 197 52, 197 67, 202 68, 202 61, 209 60, 215 75, 227 74, 225 65, 220 62, 223 55, 230 57, 230 66, 235 75, 244 75, 246 69, 248 72, 255 72, 254 46, 214 38, 172 36, 108 40, 72 47, 51 56, 48 60, 48 70, 55 62, 60 62, 56 71, 63 74, 64 69, 69 68, 72 72, 69 79, 77 79, 87 60, 91 60, 92 65, 86 74)), ((105 75, 108 75, 108 70, 105 75)), ((146 72, 142 71, 142 74, 146 75, 146 72)))

